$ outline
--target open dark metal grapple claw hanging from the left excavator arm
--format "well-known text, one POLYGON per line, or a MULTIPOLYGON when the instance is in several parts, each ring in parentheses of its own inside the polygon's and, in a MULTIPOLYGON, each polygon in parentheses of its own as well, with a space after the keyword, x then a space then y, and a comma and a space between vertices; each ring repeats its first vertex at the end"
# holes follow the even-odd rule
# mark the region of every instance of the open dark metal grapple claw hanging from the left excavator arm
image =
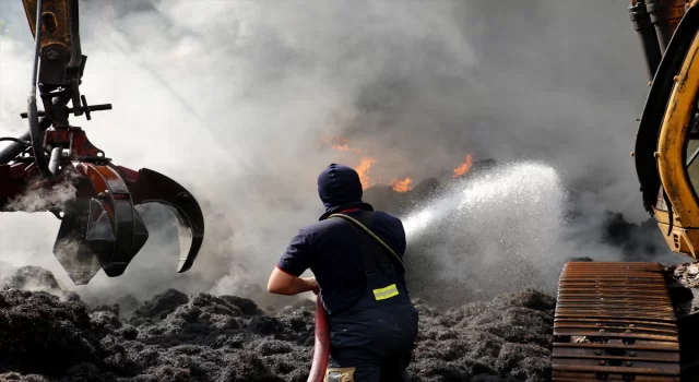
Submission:
POLYGON ((197 200, 175 180, 147 168, 75 165, 75 198, 63 211, 54 254, 75 284, 86 284, 103 268, 107 276, 123 274, 149 239, 135 208, 161 203, 178 220, 180 259, 177 272, 188 271, 203 242, 204 217, 197 200))

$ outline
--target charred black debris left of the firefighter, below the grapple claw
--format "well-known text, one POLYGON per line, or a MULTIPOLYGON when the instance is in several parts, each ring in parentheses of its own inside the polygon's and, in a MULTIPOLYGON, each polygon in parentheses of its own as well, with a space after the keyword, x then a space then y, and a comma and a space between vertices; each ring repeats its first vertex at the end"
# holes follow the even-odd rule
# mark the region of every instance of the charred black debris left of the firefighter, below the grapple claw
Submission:
POLYGON ((304 306, 270 315, 173 289, 127 319, 118 305, 5 288, 0 322, 0 380, 26 381, 305 381, 313 333, 304 306))

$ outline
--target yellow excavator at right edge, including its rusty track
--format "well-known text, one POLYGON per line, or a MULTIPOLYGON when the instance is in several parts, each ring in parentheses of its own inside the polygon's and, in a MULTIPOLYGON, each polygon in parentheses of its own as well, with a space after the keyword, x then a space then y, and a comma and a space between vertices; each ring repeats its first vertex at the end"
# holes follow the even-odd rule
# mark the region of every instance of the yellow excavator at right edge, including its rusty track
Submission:
MULTIPOLYGON (((645 210, 670 249, 699 254, 699 3, 632 0, 650 92, 635 151, 645 210)), ((554 381, 699 381, 694 295, 659 263, 569 262, 554 381)))

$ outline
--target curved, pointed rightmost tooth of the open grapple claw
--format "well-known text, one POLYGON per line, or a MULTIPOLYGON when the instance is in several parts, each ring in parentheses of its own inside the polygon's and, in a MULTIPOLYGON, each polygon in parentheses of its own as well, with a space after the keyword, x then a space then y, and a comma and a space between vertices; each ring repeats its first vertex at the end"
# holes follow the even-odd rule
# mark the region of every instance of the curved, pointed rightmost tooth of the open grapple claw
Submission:
POLYGON ((130 184, 133 205, 162 203, 177 216, 180 258, 177 272, 187 272, 201 249, 204 240, 204 216, 199 203, 181 184, 147 168, 138 175, 125 167, 117 167, 125 178, 135 181, 130 184))

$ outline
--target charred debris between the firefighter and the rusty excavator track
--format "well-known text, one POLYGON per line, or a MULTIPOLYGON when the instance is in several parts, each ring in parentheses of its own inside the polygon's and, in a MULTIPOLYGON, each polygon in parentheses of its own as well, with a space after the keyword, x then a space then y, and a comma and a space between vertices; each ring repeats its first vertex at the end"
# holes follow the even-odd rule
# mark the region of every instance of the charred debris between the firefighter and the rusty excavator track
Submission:
POLYGON ((555 299, 535 290, 445 313, 418 301, 415 381, 549 381, 555 299))

